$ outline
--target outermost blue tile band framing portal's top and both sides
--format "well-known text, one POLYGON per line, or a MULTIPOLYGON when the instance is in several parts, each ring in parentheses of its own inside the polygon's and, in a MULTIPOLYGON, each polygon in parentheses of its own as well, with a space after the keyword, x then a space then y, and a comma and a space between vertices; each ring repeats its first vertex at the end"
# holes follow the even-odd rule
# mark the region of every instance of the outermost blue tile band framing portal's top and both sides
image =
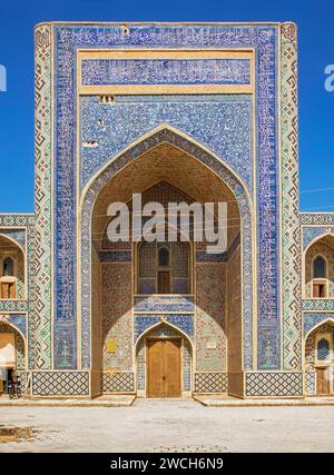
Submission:
MULTIPOLYGON (((120 26, 53 26, 55 39, 55 222, 57 230, 55 249, 55 334, 58 321, 67 319, 73 323, 72 337, 76 335, 76 216, 75 182, 76 164, 76 58, 79 48, 254 48, 256 57, 256 161, 257 161, 257 222, 258 222, 258 331, 263 323, 271 320, 276 342, 279 345, 279 285, 277 258, 279 249, 278 234, 278 160, 277 160, 277 26, 196 26, 196 24, 129 24, 129 34, 125 36, 120 26)), ((214 108, 215 109, 215 108, 214 108)), ((160 107, 164 112, 164 105, 160 107)), ((163 116, 161 116, 163 117, 163 116)), ((196 126, 199 126, 197 112, 196 126)), ((222 133, 220 128, 212 127, 213 136, 222 133)), ((159 120, 159 123, 161 119, 159 120)), ((151 126, 150 126, 151 127, 151 126)), ((183 130, 183 127, 180 127, 183 130)), ((145 131, 147 131, 146 129, 145 131)), ((144 131, 144 132, 145 132, 144 131)), ((184 130, 187 133, 187 130, 184 130)), ((124 136, 131 135, 126 128, 124 136)), ((138 133, 138 132, 137 132, 138 133)), ((143 132, 140 132, 143 133, 143 132)), ((139 133, 139 136, 140 136, 139 133)), ((137 135, 138 137, 138 135, 137 135)), ((194 137, 196 138, 196 137, 194 137)), ((132 138, 128 138, 130 144, 132 138)), ((215 140, 212 137, 209 144, 215 140)), ((203 144, 202 139, 199 142, 203 144)), ((111 157, 112 151, 110 151, 111 157)), ((223 157, 226 160, 225 157, 223 157)), ((249 237, 248 237, 249 239, 249 237)), ((244 297, 252 299, 252 286, 244 297)), ((250 310, 247 310, 250 311, 250 310)), ((252 321, 252 311, 246 314, 246 326, 252 321)), ((89 320, 84 321, 87 335, 89 320), (88 325, 86 328, 85 325, 88 325)), ((84 345, 84 366, 89 367, 86 345, 84 345)), ((250 344, 252 345, 252 344, 250 344)), ((89 352, 88 352, 89 353, 89 352)), ((249 347, 246 354, 252 354, 249 347)), ((56 359, 58 355, 56 355, 56 359)), ((246 356, 247 358, 247 356, 246 356)), ((252 359, 252 358, 250 358, 252 359)), ((275 365, 279 367, 279 355, 275 365)), ((249 365, 249 359, 247 359, 249 365)), ((72 367, 76 367, 72 360, 72 367)))

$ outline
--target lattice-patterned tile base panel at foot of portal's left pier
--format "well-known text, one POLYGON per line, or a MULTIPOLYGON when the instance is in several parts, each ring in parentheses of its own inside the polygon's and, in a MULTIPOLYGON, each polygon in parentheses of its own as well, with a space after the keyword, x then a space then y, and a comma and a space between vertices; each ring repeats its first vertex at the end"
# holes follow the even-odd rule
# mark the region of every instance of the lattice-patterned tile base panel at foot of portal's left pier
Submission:
POLYGON ((87 372, 32 372, 35 396, 88 396, 87 372))

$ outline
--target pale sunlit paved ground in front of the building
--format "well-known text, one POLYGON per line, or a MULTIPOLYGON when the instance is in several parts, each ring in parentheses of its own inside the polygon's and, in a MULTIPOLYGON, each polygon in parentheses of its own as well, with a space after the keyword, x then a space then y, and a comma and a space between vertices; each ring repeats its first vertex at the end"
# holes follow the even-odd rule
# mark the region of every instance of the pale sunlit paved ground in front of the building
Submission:
POLYGON ((334 452, 334 407, 0 407, 0 425, 32 427, 0 452, 334 452))

